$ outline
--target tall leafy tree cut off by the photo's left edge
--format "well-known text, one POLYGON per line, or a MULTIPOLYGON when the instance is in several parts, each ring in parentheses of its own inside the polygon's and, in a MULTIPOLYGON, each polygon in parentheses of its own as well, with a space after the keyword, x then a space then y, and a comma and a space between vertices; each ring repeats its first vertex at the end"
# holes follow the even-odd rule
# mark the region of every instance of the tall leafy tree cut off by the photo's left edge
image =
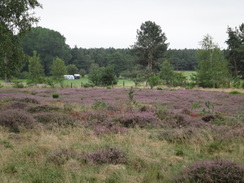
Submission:
POLYGON ((24 54, 19 37, 38 22, 33 13, 37 7, 41 7, 37 0, 0 1, 0 74, 5 80, 21 68, 24 54))

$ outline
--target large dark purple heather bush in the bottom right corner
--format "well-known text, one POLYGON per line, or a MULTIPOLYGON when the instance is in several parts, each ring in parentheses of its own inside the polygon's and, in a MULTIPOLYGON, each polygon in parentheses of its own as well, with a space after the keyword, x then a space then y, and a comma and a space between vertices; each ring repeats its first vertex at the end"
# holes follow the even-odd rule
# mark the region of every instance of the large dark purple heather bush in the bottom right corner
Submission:
POLYGON ((243 183, 244 167, 228 160, 207 160, 189 166, 175 182, 243 183))

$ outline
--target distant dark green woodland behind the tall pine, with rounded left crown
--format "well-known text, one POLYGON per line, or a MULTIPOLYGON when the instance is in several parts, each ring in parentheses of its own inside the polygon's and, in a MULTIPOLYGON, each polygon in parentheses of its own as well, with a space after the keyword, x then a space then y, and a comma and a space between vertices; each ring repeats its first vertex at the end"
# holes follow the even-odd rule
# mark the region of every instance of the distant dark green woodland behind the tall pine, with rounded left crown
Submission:
MULTIPOLYGON (((59 32, 47 28, 37 27, 31 29, 29 33, 21 40, 24 52, 32 56, 34 51, 41 57, 44 66, 45 75, 50 75, 50 65, 52 61, 59 57, 65 61, 65 64, 75 65, 81 73, 89 73, 92 65, 99 67, 114 66, 116 75, 128 70, 138 60, 138 56, 131 48, 70 48, 65 43, 65 37, 59 32)), ((195 70, 198 65, 197 50, 169 49, 162 59, 169 59, 176 70, 195 70)), ((28 62, 22 69, 22 72, 28 71, 28 62)))

